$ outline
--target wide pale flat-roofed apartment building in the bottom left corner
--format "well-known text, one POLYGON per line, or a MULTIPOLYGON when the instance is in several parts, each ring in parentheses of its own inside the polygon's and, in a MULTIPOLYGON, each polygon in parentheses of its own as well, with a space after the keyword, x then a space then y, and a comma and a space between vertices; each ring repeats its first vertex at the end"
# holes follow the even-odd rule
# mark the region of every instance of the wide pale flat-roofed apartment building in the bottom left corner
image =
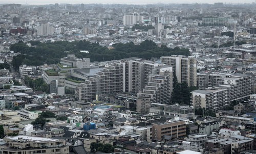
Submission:
POLYGON ((6 146, 2 146, 3 153, 69 153, 69 146, 62 139, 42 138, 18 135, 5 137, 6 146))

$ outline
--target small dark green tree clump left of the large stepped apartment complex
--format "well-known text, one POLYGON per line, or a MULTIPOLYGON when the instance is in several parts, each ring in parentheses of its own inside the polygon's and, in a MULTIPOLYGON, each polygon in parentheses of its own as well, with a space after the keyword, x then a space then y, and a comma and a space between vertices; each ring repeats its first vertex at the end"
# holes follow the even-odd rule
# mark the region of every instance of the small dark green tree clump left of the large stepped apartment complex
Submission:
POLYGON ((25 76, 24 82, 26 85, 31 87, 35 91, 42 91, 48 93, 48 84, 42 78, 37 78, 35 80, 25 76))

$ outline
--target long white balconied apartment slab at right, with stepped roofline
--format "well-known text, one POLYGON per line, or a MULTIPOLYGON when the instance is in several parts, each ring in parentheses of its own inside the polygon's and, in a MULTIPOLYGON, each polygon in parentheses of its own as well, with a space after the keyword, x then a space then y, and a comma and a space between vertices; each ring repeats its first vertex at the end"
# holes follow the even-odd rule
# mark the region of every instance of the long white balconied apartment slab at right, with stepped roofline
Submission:
POLYGON ((191 92, 191 103, 195 108, 219 109, 232 101, 241 101, 250 97, 250 75, 231 74, 222 80, 223 84, 215 85, 213 89, 191 92))

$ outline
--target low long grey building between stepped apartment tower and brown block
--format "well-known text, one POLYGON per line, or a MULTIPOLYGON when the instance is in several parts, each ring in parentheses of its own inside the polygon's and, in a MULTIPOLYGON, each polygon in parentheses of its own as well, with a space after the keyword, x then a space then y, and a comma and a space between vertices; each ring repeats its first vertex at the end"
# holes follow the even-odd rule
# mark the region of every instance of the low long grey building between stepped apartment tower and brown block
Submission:
POLYGON ((150 107, 150 112, 154 112, 160 115, 169 115, 171 117, 179 116, 181 118, 187 118, 189 120, 195 119, 195 108, 189 105, 167 105, 160 103, 153 103, 150 107))

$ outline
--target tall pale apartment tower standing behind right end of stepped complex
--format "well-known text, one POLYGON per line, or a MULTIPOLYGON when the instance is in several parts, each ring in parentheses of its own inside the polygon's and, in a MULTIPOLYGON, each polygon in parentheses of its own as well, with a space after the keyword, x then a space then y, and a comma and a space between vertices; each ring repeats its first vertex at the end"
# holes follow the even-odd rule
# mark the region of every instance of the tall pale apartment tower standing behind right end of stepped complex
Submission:
POLYGON ((162 56, 161 62, 173 66, 178 82, 187 82, 188 86, 197 86, 197 59, 192 56, 162 56))

